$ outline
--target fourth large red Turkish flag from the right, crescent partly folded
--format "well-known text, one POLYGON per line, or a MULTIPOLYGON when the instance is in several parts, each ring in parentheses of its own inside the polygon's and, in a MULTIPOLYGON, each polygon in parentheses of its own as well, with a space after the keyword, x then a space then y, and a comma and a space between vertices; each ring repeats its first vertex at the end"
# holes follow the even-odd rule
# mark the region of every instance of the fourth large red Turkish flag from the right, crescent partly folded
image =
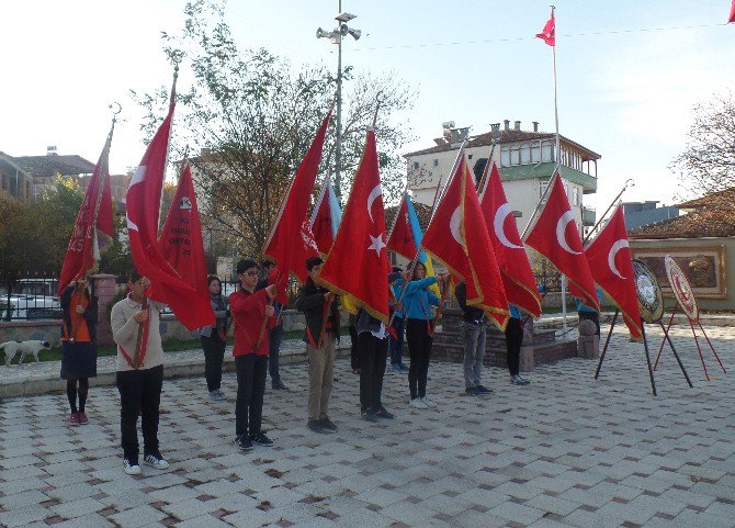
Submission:
POLYGON ((500 329, 510 312, 477 199, 474 180, 464 160, 449 183, 421 241, 467 287, 467 304, 484 310, 500 329))

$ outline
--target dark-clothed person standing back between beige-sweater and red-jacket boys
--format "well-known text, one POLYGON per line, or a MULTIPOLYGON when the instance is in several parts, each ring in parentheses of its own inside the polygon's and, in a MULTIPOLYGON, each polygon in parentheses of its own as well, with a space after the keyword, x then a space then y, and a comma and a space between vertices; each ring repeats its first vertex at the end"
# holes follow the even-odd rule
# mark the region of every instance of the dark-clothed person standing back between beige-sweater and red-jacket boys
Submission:
POLYGON ((208 276, 210 302, 214 311, 214 326, 199 329, 204 350, 204 378, 210 397, 215 401, 227 400, 222 392, 222 362, 225 358, 225 332, 227 328, 227 300, 222 294, 222 281, 217 276, 208 276))

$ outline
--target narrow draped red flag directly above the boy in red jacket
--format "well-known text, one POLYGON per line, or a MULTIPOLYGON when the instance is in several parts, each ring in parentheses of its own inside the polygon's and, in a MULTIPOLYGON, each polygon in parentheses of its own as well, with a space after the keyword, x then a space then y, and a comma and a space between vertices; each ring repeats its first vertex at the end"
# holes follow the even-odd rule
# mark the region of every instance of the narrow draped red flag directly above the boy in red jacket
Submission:
MULTIPOLYGON (((279 292, 276 300, 281 304, 289 302, 285 294, 285 284, 289 280, 289 273, 294 272, 296 277, 304 277, 302 268, 306 267, 305 260, 297 260, 297 255, 303 247, 301 244, 294 244, 294 240, 304 241, 303 224, 306 220, 306 212, 309 206, 309 199, 314 190, 314 183, 319 171, 321 161, 321 149, 324 147, 324 137, 331 119, 331 110, 321 122, 306 156, 298 166, 289 190, 283 196, 281 210, 273 222, 271 232, 263 244, 261 255, 275 262, 278 272, 281 277, 279 282, 279 292)), ((313 237, 312 237, 313 238, 313 237)), ((318 255, 318 252, 317 252, 318 255)))

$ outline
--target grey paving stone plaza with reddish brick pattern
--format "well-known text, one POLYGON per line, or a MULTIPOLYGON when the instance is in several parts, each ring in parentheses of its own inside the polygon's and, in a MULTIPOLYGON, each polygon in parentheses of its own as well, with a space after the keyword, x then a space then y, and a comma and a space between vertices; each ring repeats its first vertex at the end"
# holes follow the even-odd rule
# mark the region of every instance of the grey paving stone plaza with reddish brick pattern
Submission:
MULTIPOLYGON (((705 329, 735 370, 735 329, 705 329)), ((648 330, 655 355, 662 333, 648 330)), ((599 381, 592 360, 538 366, 529 386, 493 368, 484 384, 494 393, 472 397, 459 364, 432 363, 436 411, 409 407, 405 374, 388 370, 384 403, 396 419, 376 424, 360 419, 342 359, 335 435, 306 428, 306 366, 291 364, 291 392, 265 394, 275 443, 248 454, 233 445, 234 373, 226 402, 211 401, 200 378, 166 380, 171 468, 138 476, 123 473, 113 386, 90 390, 80 427, 68 425, 64 394, 5 398, 0 526, 735 527, 735 390, 706 348, 704 380, 688 327, 672 336, 694 389, 665 349, 653 397, 643 348, 621 329, 599 381)))

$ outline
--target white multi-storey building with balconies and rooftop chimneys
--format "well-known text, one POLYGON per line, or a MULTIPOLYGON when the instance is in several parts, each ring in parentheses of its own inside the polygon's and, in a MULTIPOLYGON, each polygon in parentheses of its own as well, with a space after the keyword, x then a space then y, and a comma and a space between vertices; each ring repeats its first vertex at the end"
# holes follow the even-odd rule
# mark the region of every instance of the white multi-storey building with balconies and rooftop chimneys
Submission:
MULTIPOLYGON (((510 121, 490 125, 490 132, 471 136, 465 147, 470 168, 477 179, 490 157, 498 165, 508 202, 518 217, 518 228, 523 231, 543 194, 556 165, 555 135, 521 130, 521 122, 510 121)), ((437 184, 446 182, 462 139, 467 128, 455 128, 454 123, 444 123, 444 136, 434 139, 436 145, 405 155, 408 165, 408 189, 415 202, 431 205, 437 184)), ((559 138, 559 172, 575 211, 578 226, 595 225, 595 210, 585 207, 584 195, 597 191, 597 160, 600 155, 564 136, 559 138)))

